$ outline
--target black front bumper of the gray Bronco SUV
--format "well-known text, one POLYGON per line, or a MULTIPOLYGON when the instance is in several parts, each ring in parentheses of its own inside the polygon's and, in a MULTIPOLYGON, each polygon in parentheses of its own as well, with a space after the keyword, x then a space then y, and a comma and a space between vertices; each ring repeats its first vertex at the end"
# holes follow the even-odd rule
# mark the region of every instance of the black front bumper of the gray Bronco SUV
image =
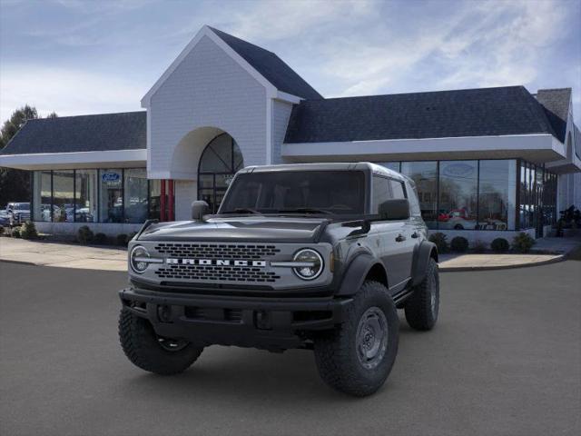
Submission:
POLYGON ((310 343, 310 332, 332 329, 351 299, 333 297, 233 297, 119 292, 123 309, 149 320, 157 334, 202 344, 284 350, 310 343))

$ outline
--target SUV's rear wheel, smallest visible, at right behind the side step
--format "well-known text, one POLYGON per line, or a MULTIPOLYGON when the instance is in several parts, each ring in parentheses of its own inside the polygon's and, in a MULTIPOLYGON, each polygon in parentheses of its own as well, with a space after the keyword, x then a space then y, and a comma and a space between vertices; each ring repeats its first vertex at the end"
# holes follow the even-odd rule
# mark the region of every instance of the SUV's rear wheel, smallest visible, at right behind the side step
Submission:
POLYGON ((426 277, 414 288, 404 307, 409 326, 416 330, 432 330, 438 321, 439 275, 438 263, 428 261, 426 277))

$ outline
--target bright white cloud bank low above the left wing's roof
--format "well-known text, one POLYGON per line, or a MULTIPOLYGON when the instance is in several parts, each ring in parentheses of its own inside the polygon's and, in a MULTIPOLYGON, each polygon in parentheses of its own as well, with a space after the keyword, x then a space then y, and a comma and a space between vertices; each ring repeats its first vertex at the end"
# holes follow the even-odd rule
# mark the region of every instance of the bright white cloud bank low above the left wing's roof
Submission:
POLYGON ((39 114, 60 116, 140 110, 147 87, 122 77, 70 68, 14 65, 0 75, 0 120, 31 104, 39 114))

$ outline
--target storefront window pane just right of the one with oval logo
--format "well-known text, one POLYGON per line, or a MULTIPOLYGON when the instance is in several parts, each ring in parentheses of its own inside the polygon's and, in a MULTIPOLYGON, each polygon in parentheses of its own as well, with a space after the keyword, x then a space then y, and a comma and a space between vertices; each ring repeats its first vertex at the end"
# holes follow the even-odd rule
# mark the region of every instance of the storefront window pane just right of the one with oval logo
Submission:
POLYGON ((515 230, 516 193, 516 161, 480 161, 478 229, 515 230))

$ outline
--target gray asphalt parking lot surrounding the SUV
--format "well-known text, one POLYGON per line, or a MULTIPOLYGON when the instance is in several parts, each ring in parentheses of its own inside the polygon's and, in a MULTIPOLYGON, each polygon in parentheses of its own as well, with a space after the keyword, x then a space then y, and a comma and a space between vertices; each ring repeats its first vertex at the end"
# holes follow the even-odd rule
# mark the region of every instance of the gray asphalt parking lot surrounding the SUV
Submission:
POLYGON ((327 388, 310 352, 211 347, 176 377, 117 342, 125 274, 0 263, 3 435, 581 434, 581 263, 442 274, 386 385, 327 388))

